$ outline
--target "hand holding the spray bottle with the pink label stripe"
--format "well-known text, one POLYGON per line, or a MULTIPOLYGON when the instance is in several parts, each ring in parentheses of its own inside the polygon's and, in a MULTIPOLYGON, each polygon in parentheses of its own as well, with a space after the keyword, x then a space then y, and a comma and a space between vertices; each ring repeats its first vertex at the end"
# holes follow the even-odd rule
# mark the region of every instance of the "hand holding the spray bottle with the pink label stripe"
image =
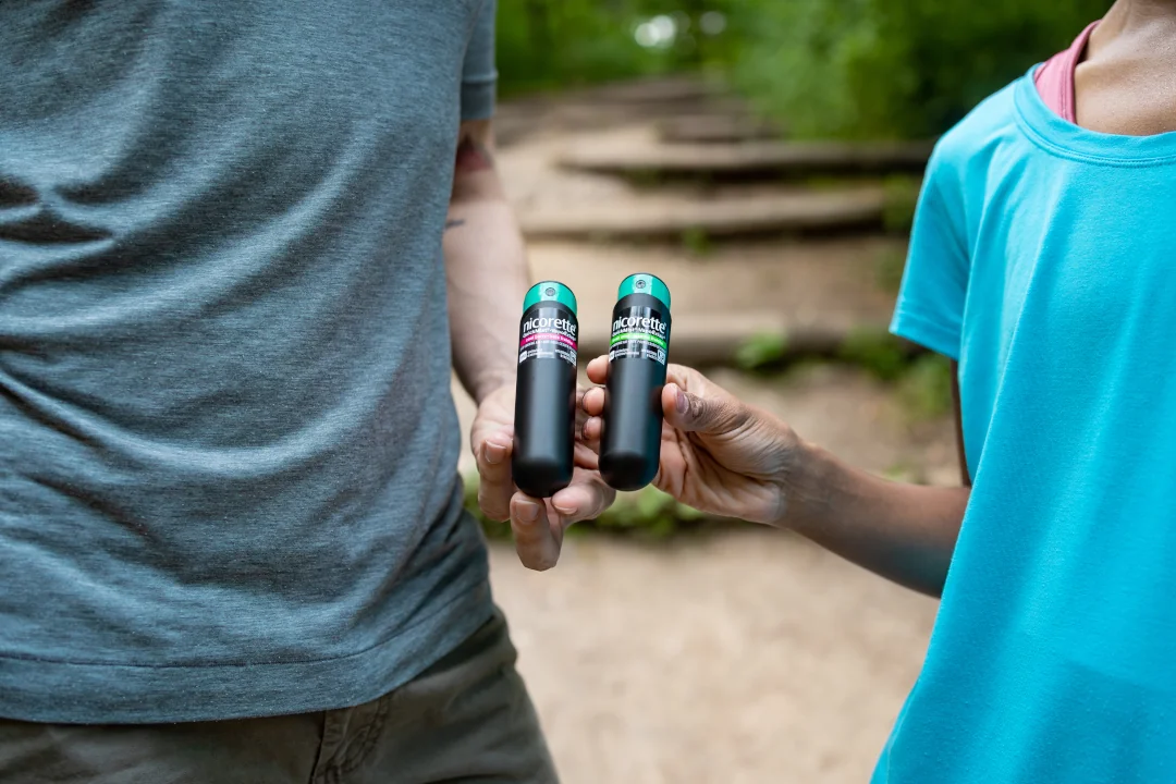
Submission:
MULTIPOLYGON (((579 418, 586 417, 580 414, 579 418)), ((577 422, 576 431, 581 431, 577 422)), ((596 455, 579 438, 572 484, 547 500, 532 498, 515 488, 510 477, 514 441, 514 387, 500 387, 482 400, 470 430, 470 448, 477 458, 477 504, 490 520, 510 518, 519 559, 528 569, 550 569, 560 558, 563 531, 581 520, 608 509, 616 491, 596 470, 596 455)))

